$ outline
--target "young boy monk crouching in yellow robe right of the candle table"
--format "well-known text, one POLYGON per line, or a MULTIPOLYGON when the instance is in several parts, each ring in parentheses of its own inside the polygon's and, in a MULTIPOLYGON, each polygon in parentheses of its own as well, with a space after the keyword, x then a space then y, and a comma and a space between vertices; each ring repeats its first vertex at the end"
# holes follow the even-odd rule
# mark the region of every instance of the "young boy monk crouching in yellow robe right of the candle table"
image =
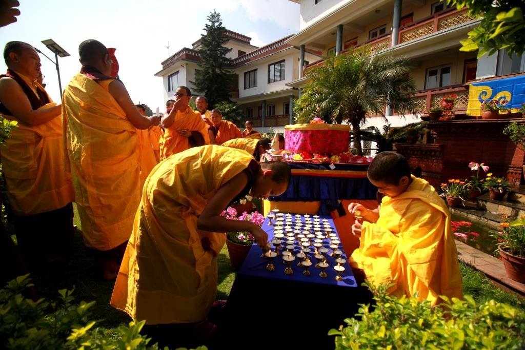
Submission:
POLYGON ((434 187, 412 176, 405 157, 378 154, 368 169, 370 182, 385 195, 379 211, 352 203, 348 210, 365 220, 352 226, 360 247, 351 257, 375 285, 390 284, 393 295, 440 302, 461 298, 461 275, 450 213, 434 187))

